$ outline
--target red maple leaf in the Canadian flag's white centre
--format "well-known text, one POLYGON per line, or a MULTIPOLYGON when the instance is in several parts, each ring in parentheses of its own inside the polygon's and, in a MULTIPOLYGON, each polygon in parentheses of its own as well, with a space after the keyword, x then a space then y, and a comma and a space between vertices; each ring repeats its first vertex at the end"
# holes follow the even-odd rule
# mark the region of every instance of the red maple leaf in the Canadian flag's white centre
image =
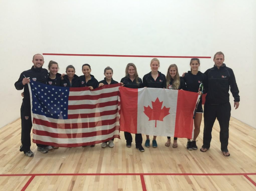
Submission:
POLYGON ((156 127, 156 120, 163 121, 166 115, 169 115, 170 108, 166 108, 165 106, 162 108, 163 101, 160 102, 158 98, 156 98, 155 102, 152 101, 152 108, 150 106, 144 106, 144 113, 148 116, 149 121, 155 120, 155 127, 156 127))

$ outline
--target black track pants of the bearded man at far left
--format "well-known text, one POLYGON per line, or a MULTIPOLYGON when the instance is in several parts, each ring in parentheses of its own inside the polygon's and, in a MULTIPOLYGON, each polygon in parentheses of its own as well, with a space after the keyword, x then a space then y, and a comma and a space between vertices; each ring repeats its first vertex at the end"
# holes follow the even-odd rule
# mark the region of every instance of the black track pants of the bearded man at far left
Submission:
MULTIPOLYGON (((31 139, 30 132, 32 128, 31 121, 31 109, 30 107, 26 107, 21 105, 20 108, 20 118, 21 118, 21 144, 22 150, 24 153, 30 150, 31 139)), ((36 144, 39 147, 46 147, 47 145, 36 144)))

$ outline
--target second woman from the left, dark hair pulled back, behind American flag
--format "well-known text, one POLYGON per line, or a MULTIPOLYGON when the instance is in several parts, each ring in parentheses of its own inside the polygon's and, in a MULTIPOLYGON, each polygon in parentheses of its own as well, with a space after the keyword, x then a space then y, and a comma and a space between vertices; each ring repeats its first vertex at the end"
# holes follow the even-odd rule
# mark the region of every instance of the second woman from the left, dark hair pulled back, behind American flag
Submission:
POLYGON ((63 80, 60 82, 60 86, 69 88, 79 88, 79 77, 75 75, 75 67, 72 65, 67 66, 66 75, 63 76, 63 80))

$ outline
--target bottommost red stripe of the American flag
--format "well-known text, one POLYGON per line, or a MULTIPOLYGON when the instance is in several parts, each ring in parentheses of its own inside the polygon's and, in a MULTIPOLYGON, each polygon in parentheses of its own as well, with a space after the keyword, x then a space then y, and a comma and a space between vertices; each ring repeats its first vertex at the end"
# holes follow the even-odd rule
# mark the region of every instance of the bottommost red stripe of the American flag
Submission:
POLYGON ((57 144, 53 142, 45 142, 45 141, 39 141, 33 139, 33 143, 41 144, 41 145, 49 145, 49 146, 58 146, 58 147, 78 147, 78 146, 89 146, 89 145, 95 145, 98 143, 106 142, 111 139, 118 138, 120 139, 119 135, 114 135, 106 140, 100 140, 100 141, 92 141, 92 142, 87 142, 87 143, 70 143, 70 144, 57 144))

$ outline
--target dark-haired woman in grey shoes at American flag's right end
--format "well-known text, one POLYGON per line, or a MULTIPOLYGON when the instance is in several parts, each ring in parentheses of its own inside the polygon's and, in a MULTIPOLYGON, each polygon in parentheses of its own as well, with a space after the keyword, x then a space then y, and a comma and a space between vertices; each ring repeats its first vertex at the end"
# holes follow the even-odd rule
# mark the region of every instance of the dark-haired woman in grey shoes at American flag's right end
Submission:
MULTIPOLYGON (((113 76, 113 69, 109 66, 107 66, 105 69, 104 69, 104 80, 101 80, 99 82, 99 87, 101 86, 104 86, 104 85, 110 85, 110 84, 117 84, 118 82, 113 80, 112 76, 113 76)), ((110 148, 113 148, 115 145, 114 145, 114 138, 112 140, 109 140, 109 141, 106 141, 106 142, 103 142, 101 143, 101 147, 102 148, 106 148, 107 146, 107 142, 108 142, 108 146, 110 148)))

